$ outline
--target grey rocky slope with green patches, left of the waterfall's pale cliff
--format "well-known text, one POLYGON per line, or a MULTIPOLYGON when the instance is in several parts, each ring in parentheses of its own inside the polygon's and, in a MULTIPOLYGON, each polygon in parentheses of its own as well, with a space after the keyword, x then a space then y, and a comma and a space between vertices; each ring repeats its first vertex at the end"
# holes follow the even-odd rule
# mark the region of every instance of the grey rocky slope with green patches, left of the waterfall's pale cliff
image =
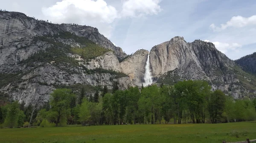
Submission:
POLYGON ((0 95, 13 100, 40 104, 59 87, 89 95, 116 81, 126 89, 133 83, 120 73, 125 56, 96 28, 0 12, 0 95))

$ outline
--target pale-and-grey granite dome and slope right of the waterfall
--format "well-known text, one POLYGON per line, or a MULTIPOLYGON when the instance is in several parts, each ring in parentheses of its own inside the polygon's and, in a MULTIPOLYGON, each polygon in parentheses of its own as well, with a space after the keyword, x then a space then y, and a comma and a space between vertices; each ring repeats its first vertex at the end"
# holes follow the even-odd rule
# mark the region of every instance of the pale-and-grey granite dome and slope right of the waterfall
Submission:
POLYGON ((256 96, 256 78, 218 51, 210 42, 183 37, 154 46, 150 52, 152 75, 158 83, 174 84, 180 80, 207 80, 213 89, 221 89, 236 98, 256 96))

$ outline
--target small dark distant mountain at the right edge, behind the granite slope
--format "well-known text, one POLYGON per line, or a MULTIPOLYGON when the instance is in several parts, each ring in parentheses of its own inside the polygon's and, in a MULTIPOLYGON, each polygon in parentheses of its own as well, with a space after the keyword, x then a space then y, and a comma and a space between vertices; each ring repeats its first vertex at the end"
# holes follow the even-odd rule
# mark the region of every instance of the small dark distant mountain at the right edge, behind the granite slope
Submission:
POLYGON ((244 71, 256 75, 256 52, 235 60, 244 71))

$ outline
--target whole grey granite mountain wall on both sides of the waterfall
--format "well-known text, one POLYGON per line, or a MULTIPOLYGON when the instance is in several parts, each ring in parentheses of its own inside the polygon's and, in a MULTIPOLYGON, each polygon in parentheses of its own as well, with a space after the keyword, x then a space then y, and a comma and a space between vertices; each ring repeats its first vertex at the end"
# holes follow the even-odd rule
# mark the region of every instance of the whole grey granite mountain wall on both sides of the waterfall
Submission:
POLYGON ((60 87, 90 95, 103 86, 140 86, 149 54, 154 83, 207 80, 236 98, 256 97, 256 77, 246 73, 210 42, 174 37, 127 56, 99 34, 76 24, 52 24, 19 12, 0 12, 0 101, 49 100, 60 87))

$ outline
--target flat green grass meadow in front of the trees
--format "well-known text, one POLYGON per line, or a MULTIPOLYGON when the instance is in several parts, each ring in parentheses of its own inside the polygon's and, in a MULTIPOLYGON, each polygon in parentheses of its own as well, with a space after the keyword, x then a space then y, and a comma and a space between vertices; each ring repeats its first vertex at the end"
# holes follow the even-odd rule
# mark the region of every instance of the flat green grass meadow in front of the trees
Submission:
POLYGON ((256 139, 256 123, 0 129, 0 143, 222 143, 256 139))

